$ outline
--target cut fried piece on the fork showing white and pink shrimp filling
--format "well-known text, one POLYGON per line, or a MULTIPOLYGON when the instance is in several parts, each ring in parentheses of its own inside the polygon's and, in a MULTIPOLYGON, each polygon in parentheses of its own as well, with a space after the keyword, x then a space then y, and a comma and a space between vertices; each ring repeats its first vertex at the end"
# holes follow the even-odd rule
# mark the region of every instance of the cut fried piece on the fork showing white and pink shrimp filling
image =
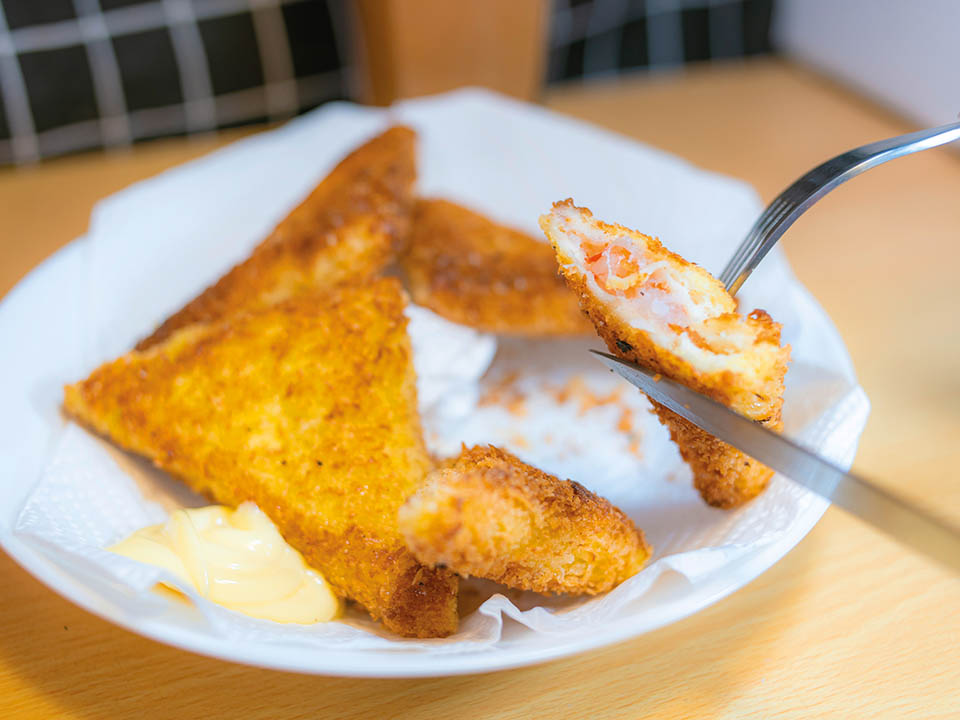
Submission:
MULTIPOLYGON (((790 346, 781 347, 780 325, 767 313, 738 315, 706 270, 654 238, 594 219, 572 200, 555 203, 540 226, 610 352, 780 430, 790 346)), ((706 502, 736 507, 767 486, 772 470, 654 407, 706 502)))

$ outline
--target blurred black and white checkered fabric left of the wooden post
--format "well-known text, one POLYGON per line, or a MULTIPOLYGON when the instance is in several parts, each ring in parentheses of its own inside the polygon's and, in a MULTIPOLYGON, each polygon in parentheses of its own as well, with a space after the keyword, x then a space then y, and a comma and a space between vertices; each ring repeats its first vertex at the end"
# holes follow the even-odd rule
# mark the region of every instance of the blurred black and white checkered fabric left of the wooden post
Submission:
POLYGON ((0 0, 0 164, 346 95, 339 0, 0 0))

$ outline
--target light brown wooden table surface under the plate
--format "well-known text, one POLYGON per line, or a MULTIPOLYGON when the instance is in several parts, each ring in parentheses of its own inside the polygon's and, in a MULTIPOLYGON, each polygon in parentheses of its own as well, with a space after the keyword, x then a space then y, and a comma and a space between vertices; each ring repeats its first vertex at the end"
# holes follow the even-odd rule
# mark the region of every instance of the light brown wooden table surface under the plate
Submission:
MULTIPOLYGON (((753 183, 909 126, 779 61, 551 90, 544 102, 753 183)), ((946 119, 945 119, 946 121, 946 119)), ((81 234, 100 198, 236 139, 161 141, 0 172, 0 293, 81 234)), ((960 519, 960 155, 933 150, 825 198, 788 233, 873 415, 856 467, 960 519)), ((434 680, 318 678, 211 660, 120 630, 0 553, 5 717, 955 717, 960 582, 830 509, 715 606, 545 665, 434 680)))

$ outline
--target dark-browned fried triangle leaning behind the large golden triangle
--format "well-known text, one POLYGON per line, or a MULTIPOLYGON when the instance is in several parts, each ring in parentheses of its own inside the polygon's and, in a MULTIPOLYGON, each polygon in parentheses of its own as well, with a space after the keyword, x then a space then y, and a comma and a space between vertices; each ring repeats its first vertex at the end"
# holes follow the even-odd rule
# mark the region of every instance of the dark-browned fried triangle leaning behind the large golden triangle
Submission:
POLYGON ((169 317, 137 350, 197 322, 373 277, 406 239, 416 134, 392 127, 347 155, 249 258, 169 317))

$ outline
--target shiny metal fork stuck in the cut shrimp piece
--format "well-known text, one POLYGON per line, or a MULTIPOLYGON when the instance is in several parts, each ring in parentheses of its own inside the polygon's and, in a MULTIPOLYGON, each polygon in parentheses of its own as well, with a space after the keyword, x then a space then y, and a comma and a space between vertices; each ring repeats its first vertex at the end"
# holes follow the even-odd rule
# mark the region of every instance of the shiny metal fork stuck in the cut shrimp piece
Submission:
POLYGON ((736 295, 740 286, 777 244, 777 240, 787 228, 793 225, 807 208, 838 185, 877 165, 954 140, 960 140, 960 122, 870 143, 848 150, 818 165, 780 193, 757 218, 747 237, 720 273, 720 282, 731 295, 736 295))

